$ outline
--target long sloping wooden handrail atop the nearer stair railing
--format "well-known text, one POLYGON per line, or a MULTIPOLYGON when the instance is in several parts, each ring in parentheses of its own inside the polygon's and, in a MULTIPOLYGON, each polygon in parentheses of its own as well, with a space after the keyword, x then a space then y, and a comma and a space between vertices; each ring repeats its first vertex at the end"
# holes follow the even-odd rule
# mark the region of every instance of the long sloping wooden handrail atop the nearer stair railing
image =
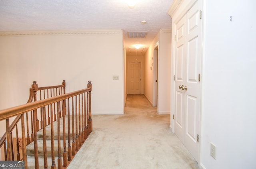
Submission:
POLYGON ((26 112, 30 112, 30 111, 35 110, 37 108, 42 108, 42 107, 47 106, 49 104, 52 104, 54 102, 59 102, 59 101, 62 101, 66 98, 70 98, 72 96, 76 96, 78 94, 88 92, 90 90, 91 90, 91 88, 86 88, 86 89, 70 92, 70 93, 67 93, 67 94, 54 96, 52 98, 46 98, 44 100, 38 100, 38 101, 35 101, 35 102, 23 104, 23 105, 20 105, 20 106, 15 106, 15 107, 12 107, 12 108, 6 108, 4 110, 0 110, 0 121, 11 118, 11 117, 14 117, 14 116, 18 116, 18 115, 26 113, 26 112))

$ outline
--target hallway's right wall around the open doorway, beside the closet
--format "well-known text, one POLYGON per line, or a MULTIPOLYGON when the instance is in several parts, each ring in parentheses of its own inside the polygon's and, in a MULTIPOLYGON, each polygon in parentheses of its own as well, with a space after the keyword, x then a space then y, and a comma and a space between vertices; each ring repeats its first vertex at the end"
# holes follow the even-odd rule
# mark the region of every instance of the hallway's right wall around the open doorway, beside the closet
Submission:
POLYGON ((158 113, 170 114, 171 31, 160 29, 144 55, 144 95, 153 102, 154 47, 158 43, 158 113), (152 67, 152 70, 150 69, 152 67))

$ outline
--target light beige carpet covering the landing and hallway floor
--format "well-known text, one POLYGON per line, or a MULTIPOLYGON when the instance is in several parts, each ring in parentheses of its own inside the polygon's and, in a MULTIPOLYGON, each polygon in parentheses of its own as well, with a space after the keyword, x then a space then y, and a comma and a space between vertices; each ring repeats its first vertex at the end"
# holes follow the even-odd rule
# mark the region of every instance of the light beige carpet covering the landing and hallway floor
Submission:
POLYGON ((198 169, 170 131, 170 114, 157 114, 142 94, 128 95, 124 115, 93 115, 93 132, 68 169, 198 169))

